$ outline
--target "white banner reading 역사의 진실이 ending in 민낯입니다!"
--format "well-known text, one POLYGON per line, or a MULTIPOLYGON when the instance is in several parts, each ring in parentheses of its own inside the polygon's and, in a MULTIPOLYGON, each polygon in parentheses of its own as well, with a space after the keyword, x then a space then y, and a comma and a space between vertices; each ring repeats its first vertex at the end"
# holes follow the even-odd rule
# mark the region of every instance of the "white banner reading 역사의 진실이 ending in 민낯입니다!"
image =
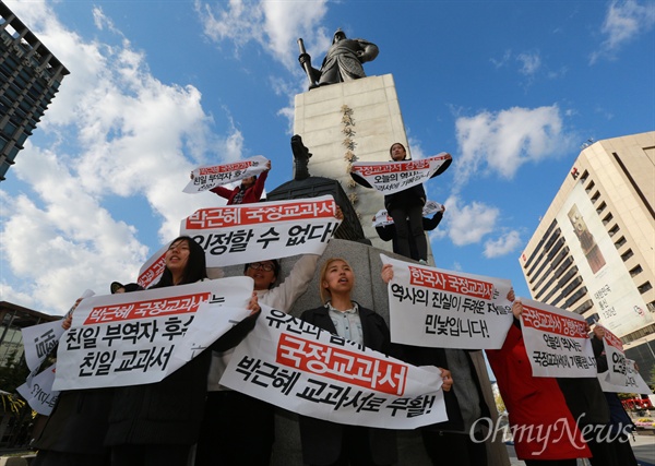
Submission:
POLYGON ((414 346, 462 349, 502 347, 512 304, 510 280, 396 261, 389 283, 391 339, 414 346))

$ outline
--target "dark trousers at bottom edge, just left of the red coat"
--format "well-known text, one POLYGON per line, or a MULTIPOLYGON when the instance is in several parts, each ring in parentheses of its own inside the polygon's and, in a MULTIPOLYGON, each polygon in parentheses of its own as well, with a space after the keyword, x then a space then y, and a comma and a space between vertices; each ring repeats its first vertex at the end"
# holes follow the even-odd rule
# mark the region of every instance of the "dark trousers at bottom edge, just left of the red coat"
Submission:
POLYGON ((486 466, 485 442, 474 442, 468 433, 421 430, 426 452, 434 466, 486 466))

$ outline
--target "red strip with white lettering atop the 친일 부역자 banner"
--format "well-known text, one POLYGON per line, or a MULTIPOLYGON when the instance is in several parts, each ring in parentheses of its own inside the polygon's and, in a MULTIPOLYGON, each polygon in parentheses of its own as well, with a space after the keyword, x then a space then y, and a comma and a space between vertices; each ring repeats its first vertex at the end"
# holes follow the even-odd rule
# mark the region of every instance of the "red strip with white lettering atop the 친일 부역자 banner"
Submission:
POLYGON ((160 314, 175 315, 196 312, 198 307, 210 299, 211 292, 174 296, 151 301, 129 302, 126 304, 94 308, 83 325, 107 322, 130 321, 134 319, 155 318, 160 314))

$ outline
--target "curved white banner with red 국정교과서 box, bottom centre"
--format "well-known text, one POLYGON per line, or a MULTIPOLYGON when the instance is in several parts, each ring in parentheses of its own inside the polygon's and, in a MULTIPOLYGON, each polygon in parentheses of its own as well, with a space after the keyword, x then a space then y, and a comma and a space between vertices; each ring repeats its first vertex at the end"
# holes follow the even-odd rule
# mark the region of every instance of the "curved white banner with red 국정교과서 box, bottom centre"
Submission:
POLYGON ((221 384, 332 422, 415 429, 448 419, 441 374, 263 308, 221 384))

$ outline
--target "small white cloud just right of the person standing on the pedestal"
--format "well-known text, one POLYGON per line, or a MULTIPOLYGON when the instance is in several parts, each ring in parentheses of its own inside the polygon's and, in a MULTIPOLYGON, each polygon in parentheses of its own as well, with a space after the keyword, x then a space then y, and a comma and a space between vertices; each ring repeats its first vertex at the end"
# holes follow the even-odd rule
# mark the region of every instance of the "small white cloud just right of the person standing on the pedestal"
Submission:
POLYGON ((448 236, 453 244, 473 244, 493 231, 498 208, 481 202, 462 205, 456 195, 450 196, 444 204, 448 205, 448 236))

